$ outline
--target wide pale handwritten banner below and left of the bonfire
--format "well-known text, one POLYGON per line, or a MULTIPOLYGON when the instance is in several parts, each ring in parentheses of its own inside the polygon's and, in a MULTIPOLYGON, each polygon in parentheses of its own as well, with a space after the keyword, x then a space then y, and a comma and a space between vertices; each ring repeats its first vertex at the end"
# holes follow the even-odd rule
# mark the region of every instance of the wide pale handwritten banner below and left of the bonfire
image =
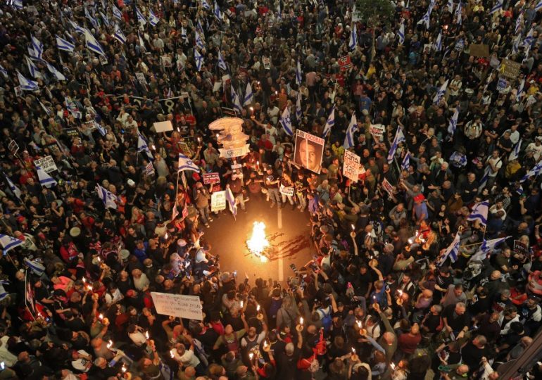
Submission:
POLYGON ((154 308, 161 315, 203 320, 203 309, 198 296, 183 296, 182 294, 158 293, 151 291, 154 308))

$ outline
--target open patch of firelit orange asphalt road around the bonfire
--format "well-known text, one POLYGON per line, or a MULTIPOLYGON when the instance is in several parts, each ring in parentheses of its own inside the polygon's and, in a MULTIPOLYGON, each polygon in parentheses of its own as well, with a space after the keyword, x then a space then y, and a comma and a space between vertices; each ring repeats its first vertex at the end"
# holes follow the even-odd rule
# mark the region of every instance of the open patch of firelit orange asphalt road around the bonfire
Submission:
POLYGON ((251 199, 246 203, 246 213, 238 207, 237 219, 229 210, 218 217, 213 215, 213 222, 205 229, 203 238, 210 242, 211 253, 220 255, 220 270, 237 270, 237 278, 248 276, 251 284, 258 277, 286 281, 294 274, 291 263, 299 268, 312 257, 307 223, 306 210, 304 213, 297 208, 291 210, 289 204, 279 210, 277 206, 270 208, 270 203, 265 200, 251 199), (265 223, 265 234, 271 246, 268 262, 261 262, 246 248, 254 222, 265 223))

